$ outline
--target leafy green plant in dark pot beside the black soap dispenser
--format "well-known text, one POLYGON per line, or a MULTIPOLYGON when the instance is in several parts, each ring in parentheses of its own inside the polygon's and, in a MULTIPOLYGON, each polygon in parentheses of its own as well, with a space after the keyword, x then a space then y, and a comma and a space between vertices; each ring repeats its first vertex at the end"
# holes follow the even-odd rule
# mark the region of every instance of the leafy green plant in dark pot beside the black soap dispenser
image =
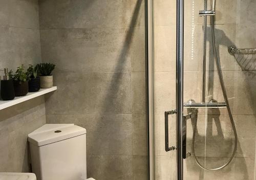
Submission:
POLYGON ((27 74, 24 72, 24 65, 18 66, 14 75, 10 71, 9 76, 13 79, 15 96, 26 96, 29 92, 29 84, 27 74))

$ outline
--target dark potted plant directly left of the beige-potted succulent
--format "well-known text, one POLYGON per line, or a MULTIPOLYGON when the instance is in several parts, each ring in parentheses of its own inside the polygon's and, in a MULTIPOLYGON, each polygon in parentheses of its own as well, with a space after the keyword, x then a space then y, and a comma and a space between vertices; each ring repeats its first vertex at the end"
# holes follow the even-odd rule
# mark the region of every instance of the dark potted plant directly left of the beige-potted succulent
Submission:
POLYGON ((37 77, 37 68, 29 64, 27 70, 27 77, 29 79, 29 92, 38 92, 40 89, 40 77, 37 77))

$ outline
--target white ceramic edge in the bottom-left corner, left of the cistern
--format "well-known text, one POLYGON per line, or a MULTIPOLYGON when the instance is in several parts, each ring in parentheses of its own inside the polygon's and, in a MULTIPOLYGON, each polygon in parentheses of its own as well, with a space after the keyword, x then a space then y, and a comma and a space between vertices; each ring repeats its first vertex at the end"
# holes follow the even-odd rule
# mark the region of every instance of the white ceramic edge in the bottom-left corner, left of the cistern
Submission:
POLYGON ((36 180, 34 173, 0 172, 0 180, 36 180))

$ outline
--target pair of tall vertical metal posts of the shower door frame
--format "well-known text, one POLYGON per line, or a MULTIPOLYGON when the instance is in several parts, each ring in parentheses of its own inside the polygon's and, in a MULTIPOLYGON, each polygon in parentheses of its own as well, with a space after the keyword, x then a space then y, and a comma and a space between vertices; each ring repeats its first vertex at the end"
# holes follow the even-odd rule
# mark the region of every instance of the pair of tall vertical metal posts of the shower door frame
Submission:
MULTIPOLYGON (((146 71, 147 71, 147 114, 148 114, 148 179, 154 180, 154 0, 145 0, 146 29, 146 71)), ((177 0, 176 21, 176 179, 183 180, 183 145, 185 145, 185 127, 183 121, 183 51, 184 51, 184 0, 177 0)), ((164 147, 163 147, 164 148, 164 147)))

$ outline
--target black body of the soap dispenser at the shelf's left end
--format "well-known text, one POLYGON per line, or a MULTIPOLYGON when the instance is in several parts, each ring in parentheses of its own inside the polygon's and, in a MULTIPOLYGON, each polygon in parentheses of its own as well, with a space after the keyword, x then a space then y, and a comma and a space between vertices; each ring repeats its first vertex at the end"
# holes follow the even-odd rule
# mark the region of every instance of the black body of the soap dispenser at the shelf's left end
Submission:
POLYGON ((13 81, 11 79, 1 81, 1 97, 4 101, 15 98, 13 81))

